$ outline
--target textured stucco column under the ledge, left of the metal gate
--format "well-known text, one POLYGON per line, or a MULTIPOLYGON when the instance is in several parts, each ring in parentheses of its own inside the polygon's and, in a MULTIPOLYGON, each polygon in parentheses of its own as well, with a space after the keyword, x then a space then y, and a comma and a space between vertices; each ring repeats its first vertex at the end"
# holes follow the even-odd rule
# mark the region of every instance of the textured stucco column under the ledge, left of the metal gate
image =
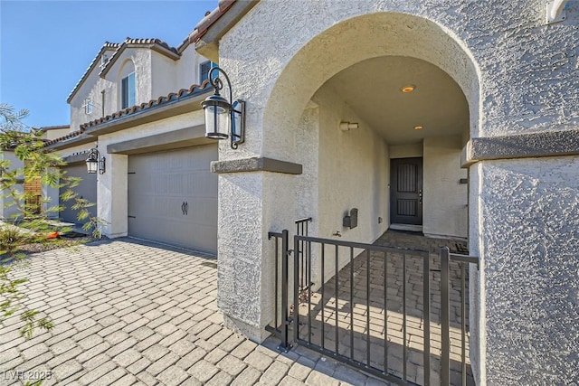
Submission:
POLYGON ((293 225, 292 174, 254 171, 219 176, 217 301, 225 325, 261 342, 273 318, 274 244, 269 231, 293 225))

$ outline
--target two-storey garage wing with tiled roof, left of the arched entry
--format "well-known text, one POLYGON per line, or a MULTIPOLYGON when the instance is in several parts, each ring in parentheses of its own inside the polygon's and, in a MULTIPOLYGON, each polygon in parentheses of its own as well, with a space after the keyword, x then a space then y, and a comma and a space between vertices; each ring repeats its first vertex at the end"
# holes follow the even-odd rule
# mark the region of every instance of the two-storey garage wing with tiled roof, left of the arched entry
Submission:
MULTIPOLYGON (((199 105, 213 65, 188 39, 173 48, 127 38, 105 42, 72 89, 71 131, 47 147, 62 154, 67 175, 82 178, 77 193, 97 203, 90 214, 104 221, 105 236, 216 252, 217 176, 209 163, 217 146, 204 138, 199 105), (102 173, 87 174, 91 148, 105 159, 102 173)), ((59 193, 48 192, 51 202, 59 193)), ((59 216, 76 222, 77 213, 59 216)))

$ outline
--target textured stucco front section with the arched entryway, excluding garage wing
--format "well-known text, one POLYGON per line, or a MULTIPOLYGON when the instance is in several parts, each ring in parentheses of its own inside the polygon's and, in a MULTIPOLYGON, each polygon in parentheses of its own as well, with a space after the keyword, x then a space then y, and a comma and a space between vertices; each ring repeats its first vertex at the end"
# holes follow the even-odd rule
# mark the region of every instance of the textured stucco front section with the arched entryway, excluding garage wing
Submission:
POLYGON ((422 224, 403 225, 479 257, 477 383, 579 379, 579 5, 549 3, 220 2, 190 39, 247 103, 245 143, 212 166, 227 324, 266 334, 269 231, 311 216, 318 237, 373 241, 399 222, 393 174, 422 167, 422 224))

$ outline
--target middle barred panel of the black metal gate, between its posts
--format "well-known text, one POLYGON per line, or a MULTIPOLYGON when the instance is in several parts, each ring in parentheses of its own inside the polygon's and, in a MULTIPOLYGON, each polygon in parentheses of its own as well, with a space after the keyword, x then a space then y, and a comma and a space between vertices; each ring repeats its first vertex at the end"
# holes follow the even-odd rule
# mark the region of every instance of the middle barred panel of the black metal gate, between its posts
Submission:
MULTIPOLYGON (((408 362, 408 346, 409 339, 407 334, 407 299, 406 299, 406 285, 405 279, 402 280, 403 297, 401 298, 402 307, 402 368, 399 376, 394 375, 390 371, 389 350, 391 344, 388 343, 388 293, 387 283, 388 278, 388 264, 387 260, 391 255, 401 255, 403 277, 406 276, 407 257, 413 255, 414 257, 422 258, 424 263, 424 271, 430 271, 429 253, 425 250, 418 249, 397 249, 392 247, 383 247, 373 244, 365 244, 359 242, 318 239, 306 236, 294 237, 294 250, 299 253, 301 249, 308 250, 308 257, 311 258, 312 249, 319 251, 319 301, 318 304, 312 308, 312 294, 306 294, 307 308, 305 315, 300 315, 296 312, 293 324, 293 340, 310 349, 316 350, 319 353, 324 353, 341 362, 346 362, 360 370, 373 373, 389 381, 395 381, 402 384, 413 384, 407 377, 407 362, 408 362), (312 244, 317 245, 317 248, 312 248, 312 244), (327 247, 330 247, 330 255, 327 256, 327 247), (344 253, 344 251, 346 253, 344 253), (372 256, 372 254, 381 255, 380 257, 372 256), (383 313, 379 314, 375 311, 374 300, 371 296, 371 275, 373 268, 371 268, 372 259, 382 259, 383 267, 380 275, 383 277, 382 282, 382 305, 383 313), (342 261, 346 260, 343 264, 342 261), (358 261, 356 264, 356 260, 358 261), (327 272, 327 262, 333 267, 330 267, 327 272), (357 269, 356 266, 364 265, 365 269, 357 269), (362 274, 362 287, 356 288, 355 277, 362 274), (364 278, 365 276, 365 278, 364 278), (329 277, 327 281, 326 278, 329 277), (356 295, 355 295, 356 293, 356 295), (348 306, 346 306, 346 304, 348 306), (321 306, 320 306, 321 305, 321 306), (330 306, 327 306, 330 305, 330 306), (357 308, 357 311, 356 311, 357 308), (314 315, 316 314, 316 315, 314 315), (376 315, 373 317, 371 315, 376 315), (316 318, 314 322, 312 319, 316 318), (377 320, 377 318, 380 320, 377 320), (321 318, 321 320, 320 320, 321 318), (303 320, 305 319, 305 320, 303 320), (371 320, 372 319, 372 320, 371 320), (303 320, 303 321, 302 321, 303 320), (303 328, 306 329, 305 334, 302 333, 303 328), (314 327, 315 325, 315 327, 314 327), (374 328, 373 328, 374 327, 374 328), (382 337, 376 337, 373 334, 375 327, 383 328, 384 334, 382 337), (319 338, 317 342, 312 339, 313 329, 318 330, 319 338), (327 332, 330 332, 328 336, 327 332), (362 342, 362 350, 360 348, 362 342), (372 348, 378 348, 381 352, 373 351, 372 348), (376 357, 379 357, 376 358, 376 357), (378 367, 381 362, 382 366, 378 367)), ((308 262, 311 267, 311 261, 308 262)), ((299 264, 294 264, 296 272, 299 270, 299 264)), ((299 285, 294 285, 294 297, 299 297, 299 285)), ((430 293, 429 280, 423 282, 424 294, 430 293)), ((376 294, 377 295, 377 294, 376 294)), ((428 298, 428 295, 426 295, 428 298)), ((302 299, 304 296, 301 297, 302 299)), ((425 302, 425 305, 428 302, 425 302)), ((430 308, 425 306, 423 308, 422 317, 425 326, 430 326, 430 308)), ((425 339, 423 340, 424 352, 424 373, 430 372, 430 332, 429 327, 426 327, 425 339), (428 338, 426 338, 428 337, 428 338)), ((426 377, 428 378, 428 377, 426 377)), ((425 382, 424 384, 429 384, 425 382)))

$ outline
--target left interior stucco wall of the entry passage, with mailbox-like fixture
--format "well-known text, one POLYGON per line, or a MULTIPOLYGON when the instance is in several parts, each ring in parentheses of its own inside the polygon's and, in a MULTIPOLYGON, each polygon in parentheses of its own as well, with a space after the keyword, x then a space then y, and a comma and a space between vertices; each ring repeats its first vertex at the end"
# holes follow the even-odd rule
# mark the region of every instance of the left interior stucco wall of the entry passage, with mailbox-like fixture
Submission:
MULTIPOLYGON (((317 236, 373 242, 388 228, 388 146, 333 89, 322 87, 312 99, 319 107, 317 236), (339 128, 342 121, 356 122, 358 128, 343 131, 339 128), (343 218, 352 208, 358 210, 358 225, 349 229, 343 227, 343 218), (337 231, 341 237, 333 236, 337 231)), ((312 263, 317 286, 321 284, 318 252, 314 251, 312 263)), ((339 252, 338 268, 342 268, 349 261, 349 251, 339 252)), ((325 280, 335 273, 335 261, 327 259, 325 280)))

